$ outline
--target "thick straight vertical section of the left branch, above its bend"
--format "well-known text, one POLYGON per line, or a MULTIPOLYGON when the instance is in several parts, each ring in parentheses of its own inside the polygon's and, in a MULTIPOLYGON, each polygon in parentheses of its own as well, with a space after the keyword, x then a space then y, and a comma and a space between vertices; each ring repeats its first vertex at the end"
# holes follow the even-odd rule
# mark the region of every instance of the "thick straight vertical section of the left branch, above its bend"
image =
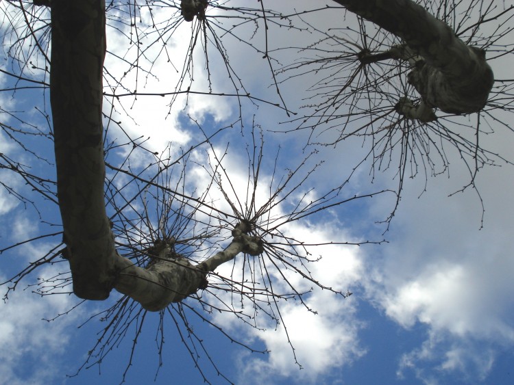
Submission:
POLYGON ((105 3, 52 1, 51 27, 57 194, 73 291, 103 300, 112 289, 117 255, 103 199, 105 3))

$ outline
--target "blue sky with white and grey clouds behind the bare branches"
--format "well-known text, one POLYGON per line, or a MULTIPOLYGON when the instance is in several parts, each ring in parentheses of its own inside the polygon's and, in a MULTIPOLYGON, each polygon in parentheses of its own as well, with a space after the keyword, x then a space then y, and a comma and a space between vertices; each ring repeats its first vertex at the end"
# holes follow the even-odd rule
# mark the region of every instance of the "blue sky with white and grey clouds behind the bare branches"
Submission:
MULTIPOLYGON (((231 1, 229 4, 237 3, 231 1)), ((265 5, 271 6, 266 2, 265 5)), ((313 1, 284 1, 280 4, 280 11, 292 13, 293 9, 308 10, 318 5, 313 5, 313 1)), ((506 9, 511 5, 512 1, 504 1, 501 7, 506 9)), ((145 14, 144 8, 141 12, 141 20, 149 23, 149 15, 145 14)), ((208 9, 208 12, 212 12, 212 16, 223 15, 221 10, 208 9)), ((328 10, 302 17, 321 30, 354 26, 350 15, 341 15, 342 10, 328 10)), ((165 15, 161 17, 165 18, 165 15)), ((223 20, 221 16, 220 20, 223 20)), ((230 19, 225 23, 230 23, 230 19)), ((310 52, 298 49, 273 51, 273 48, 306 47, 309 42, 321 39, 320 34, 306 34, 299 29, 286 31, 284 27, 271 25, 271 20, 269 23, 269 34, 273 33, 269 49, 277 58, 276 62, 271 62, 274 68, 294 63, 299 57, 308 57, 310 52)), ((471 25, 474 21, 471 18, 467 23, 471 25)), ((236 31, 238 36, 253 36, 249 41, 262 48, 265 42, 263 28, 256 29, 254 33, 253 25, 247 24, 232 32, 236 31)), ((3 23, 2 35, 8 27, 8 23, 3 23)), ((167 42, 171 64, 178 68, 178 72, 162 55, 156 58, 160 46, 145 52, 140 65, 148 68, 151 64, 151 75, 138 73, 139 92, 160 94, 173 89, 184 55, 189 50, 192 27, 191 23, 182 23, 167 42)), ((108 27, 110 53, 106 57, 109 70, 104 83, 106 92, 112 92, 109 87, 113 86, 114 78, 123 77, 125 82, 117 86, 117 91, 125 85, 132 89, 135 83, 136 71, 127 71, 127 62, 134 59, 135 54, 135 44, 127 43, 127 31, 130 31, 127 26, 125 29, 108 27), (119 57, 125 60, 121 61, 119 57)), ((3 40, 4 52, 8 42, 3 40)), ((143 40, 141 45, 144 44, 143 40)), ((212 40, 208 42, 209 49, 211 44, 212 40)), ((230 34, 223 36, 223 44, 230 57, 230 68, 234 68, 242 79, 245 90, 257 98, 280 103, 272 83, 269 62, 262 58, 262 53, 252 51, 246 44, 231 38, 230 34)), ((212 49, 209 52, 213 90, 227 94, 233 92, 233 73, 230 72, 232 77, 228 77, 227 67, 216 56, 216 51, 212 49)), ((506 65, 511 59, 512 54, 491 60, 495 79, 511 79, 510 68, 506 65)), ((208 89, 201 50, 195 50, 193 62, 195 72, 191 90, 208 89)), ((2 66, 8 69, 8 63, 8 60, 3 60, 2 66)), ((41 66, 36 64, 35 67, 31 70, 32 76, 43 76, 44 70, 38 69, 41 66)), ((310 103, 304 100, 309 95, 306 89, 319 77, 323 79, 323 73, 307 73, 280 83, 281 96, 291 111, 304 113, 301 106, 310 103)), ((12 87, 12 79, 0 74, 0 85, 4 89, 12 87)), ((36 122, 38 127, 45 127, 44 116, 34 109, 35 105, 44 108, 46 99, 42 96, 40 89, 1 92, 0 121, 3 124, 20 124, 9 114, 17 111, 19 116, 36 122)), ((169 148, 175 155, 180 148, 188 148, 201 140, 197 125, 188 116, 206 133, 236 122, 232 128, 215 137, 212 148, 192 152, 188 188, 201 191, 209 183, 210 175, 206 172, 208 165, 212 164, 209 159, 212 161, 214 153, 222 155, 227 148, 223 168, 228 175, 222 175, 223 186, 227 186, 227 178, 230 178, 234 188, 229 198, 245 200, 246 151, 248 145, 250 148, 253 145, 249 135, 252 120, 260 124, 265 135, 266 156, 256 188, 258 204, 265 202, 269 186, 276 183, 277 176, 286 175, 308 154, 305 144, 309 132, 275 132, 282 127, 294 127, 294 122, 284 123, 291 119, 284 109, 266 103, 256 107, 245 100, 241 113, 244 127, 241 127, 237 123, 240 109, 236 98, 191 95, 186 99, 179 96, 171 108, 170 102, 171 96, 122 97, 119 103, 114 104, 112 114, 124 131, 111 125, 108 140, 123 142, 123 135, 143 135, 149 138, 145 146, 150 150, 162 152, 169 148), (279 146, 276 166, 275 155, 279 146), (276 177, 275 182, 271 182, 274 167, 276 177)), ((111 111, 108 99, 103 111, 106 114, 111 111)), ((500 124, 500 120, 512 118, 505 111, 491 111, 491 115, 498 120, 487 120, 487 124, 491 124, 487 130, 494 129, 495 132, 480 136, 480 143, 491 152, 512 160, 509 158, 514 145, 511 127, 500 124)), ((447 124, 454 122, 452 127, 458 130, 463 127, 459 124, 473 120, 476 116, 462 116, 449 118, 447 124)), ((323 130, 321 126, 320 131, 315 131, 315 135, 319 133, 316 140, 328 141, 338 135, 337 127, 323 130)), ((45 137, 34 135, 27 139, 27 143, 36 144, 41 151, 39 155, 51 159, 51 142, 45 137)), ((293 191, 291 202, 297 201, 302 194, 308 194, 309 199, 318 198, 333 185, 341 184, 353 172, 356 162, 362 159, 366 146, 355 138, 336 146, 316 146, 315 157, 309 159, 302 170, 308 170, 314 163, 323 163, 306 185, 293 191)), ((112 159, 122 159, 125 151, 121 148, 114 152, 112 159)), ((0 152, 22 159, 33 170, 52 175, 51 163, 29 157, 10 142, 5 130, 0 131, 0 152)), ((136 155, 131 159, 132 167, 143 167, 149 158, 144 153, 136 155)), ((326 287, 343 293, 350 291, 351 296, 343 298, 328 290, 314 288, 306 296, 304 304, 297 300, 280 302, 282 322, 279 325, 260 312, 255 320, 250 321, 255 322, 256 328, 226 313, 204 313, 210 323, 188 313, 195 334, 201 336, 205 343, 206 351, 199 351, 199 355, 201 370, 208 380, 212 384, 227 383, 213 369, 210 357, 219 371, 236 384, 513 383, 514 300, 511 293, 514 290, 514 207, 511 197, 514 195, 514 168, 509 165, 485 167, 476 176, 476 190, 467 188, 456 192, 469 182, 469 172, 456 151, 448 148, 445 156, 450 164, 448 172, 428 176, 428 181, 422 173, 405 179, 402 198, 389 228, 379 223, 395 204, 391 194, 387 193, 333 207, 282 227, 284 233, 306 243, 327 243, 313 250, 314 255, 321 258, 310 263, 309 269, 326 287), (350 243, 382 239, 385 242, 360 246, 330 244, 334 239, 350 243), (242 345, 232 343, 223 333, 256 351, 269 353, 252 353, 242 345)), ((397 155, 393 155, 393 160, 395 157, 397 155)), ((29 194, 27 187, 7 170, 0 170, 0 176, 3 183, 10 183, 29 194)), ((123 181, 119 178, 116 183, 121 186, 123 181)), ((341 194, 369 194, 394 189, 397 183, 394 168, 376 170, 371 183, 369 164, 365 163, 353 173, 341 194)), ((230 209, 219 189, 212 189, 209 198, 221 209, 230 209)), ((0 189, 0 249, 30 237, 58 232, 58 226, 49 226, 59 223, 56 205, 40 198, 34 200, 40 207, 42 218, 30 204, 23 204, 7 190, 0 189)), ((271 214, 283 215, 291 209, 291 202, 278 205, 271 214)), ((141 209, 143 205, 138 204, 136 209, 141 209)), ((59 241, 58 237, 47 237, 0 254, 0 281, 16 274, 29 261, 58 245, 59 241)), ((236 257, 233 264, 221 265, 217 273, 221 276, 235 274, 232 278, 241 280, 238 267, 242 263, 242 258, 236 257)), ((182 343, 184 334, 180 334, 180 330, 183 332, 184 329, 175 326, 173 315, 178 317, 178 313, 174 310, 171 310, 171 316, 164 317, 162 324, 158 314, 146 316, 132 358, 131 345, 136 332, 134 323, 126 331, 127 337, 123 341, 112 344, 112 350, 100 365, 88 368, 86 364, 82 367, 88 351, 99 338, 98 333, 105 326, 99 317, 91 317, 111 306, 121 295, 112 293, 105 303, 88 302, 77 306, 80 301, 73 295, 41 296, 34 293, 36 287, 33 284, 38 278, 51 278, 64 271, 65 263, 39 267, 9 293, 8 300, 0 302, 0 384, 117 384, 123 380, 130 362, 132 366, 124 377, 126 384, 145 384, 154 380, 157 384, 203 382, 182 343), (161 367, 158 358, 159 328, 166 330, 161 367)), ((299 292, 313 287, 312 282, 291 271, 283 271, 282 276, 278 269, 271 267, 269 274, 277 293, 288 289, 284 277, 299 292)), ((0 287, 2 295, 5 290, 6 285, 0 287)), ((69 288, 59 291, 66 292, 69 288)), ((218 295, 227 302, 234 300, 222 291, 218 295)), ((212 300, 209 293, 204 296, 205 300, 212 300)), ((186 300, 186 304, 193 308, 197 306, 193 299, 186 300)), ((237 301, 232 304, 238 310, 248 305, 237 301)))

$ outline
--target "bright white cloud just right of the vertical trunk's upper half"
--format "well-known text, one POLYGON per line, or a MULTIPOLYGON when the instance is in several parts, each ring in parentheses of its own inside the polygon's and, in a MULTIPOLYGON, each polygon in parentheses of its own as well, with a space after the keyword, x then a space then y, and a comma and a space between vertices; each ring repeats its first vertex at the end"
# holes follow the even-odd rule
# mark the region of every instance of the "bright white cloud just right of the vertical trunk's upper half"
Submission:
MULTIPOLYGON (((142 25, 145 25, 145 23, 159 25, 168 20, 173 8, 154 12, 151 20, 146 8, 142 8, 142 12, 140 18, 142 25)), ((112 114, 112 119, 115 122, 121 122, 123 130, 129 137, 134 139, 143 135, 143 140, 146 140, 145 147, 151 151, 160 152, 170 143, 173 144, 172 148, 186 146, 195 137, 197 133, 195 133, 194 128, 190 130, 183 127, 184 124, 191 123, 188 121, 187 115, 199 123, 204 122, 207 116, 212 116, 216 122, 221 122, 230 117, 233 102, 227 98, 194 93, 160 96, 160 93, 174 92, 175 85, 180 81, 180 72, 176 68, 180 70, 184 66, 181 61, 188 57, 189 40, 192 33, 191 23, 179 25, 173 32, 173 38, 166 42, 165 49, 171 55, 171 63, 167 59, 167 55, 162 53, 164 48, 162 40, 147 47, 142 54, 136 49, 136 44, 127 39, 127 36, 131 34, 131 27, 129 25, 116 25, 116 27, 117 29, 110 27, 107 29, 108 50, 114 55, 108 53, 106 56, 105 66, 108 68, 110 75, 107 78, 106 87, 108 87, 109 79, 113 77, 113 79, 123 79, 121 85, 111 81, 111 86, 116 87, 115 93, 134 92, 133 88, 137 85, 137 92, 154 94, 153 96, 122 96, 120 102, 123 104, 123 108, 118 101, 115 101, 114 111, 111 111, 109 103, 104 103, 104 112, 112 114), (120 32, 125 32, 125 34, 120 32), (123 57, 124 61, 120 61, 119 57, 123 57), (129 63, 137 63, 141 67, 151 66, 151 74, 147 74, 143 70, 136 70, 129 63), (127 85, 127 90, 123 89, 123 85, 127 85), (169 104, 172 99, 175 100, 170 107, 169 104)), ((144 46, 156 36, 149 34, 138 38, 144 46)), ((215 59, 212 57, 210 59, 213 60, 211 65, 215 66, 215 59)), ((202 66, 204 57, 201 47, 195 48, 193 62, 195 63, 195 70, 191 91, 205 91, 208 89, 208 78, 204 66, 202 66)), ((212 72, 216 73, 217 71, 212 70, 212 72)), ((213 92, 217 92, 216 86, 220 81, 217 76, 214 76, 212 81, 214 82, 213 92)), ((188 80, 186 79, 184 89, 180 91, 184 91, 187 85, 188 80)), ((109 88, 106 89, 108 93, 112 91, 109 88)), ((121 133, 112 123, 110 127, 111 136, 118 137, 123 142, 125 134, 121 133)))

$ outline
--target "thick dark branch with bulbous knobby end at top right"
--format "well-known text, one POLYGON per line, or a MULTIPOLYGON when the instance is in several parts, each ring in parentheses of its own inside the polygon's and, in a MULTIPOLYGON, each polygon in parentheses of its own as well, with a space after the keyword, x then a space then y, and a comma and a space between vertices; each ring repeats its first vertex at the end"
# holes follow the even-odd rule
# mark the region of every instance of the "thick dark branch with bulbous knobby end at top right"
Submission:
POLYGON ((493 86, 485 53, 468 47, 454 31, 411 0, 334 0, 350 12, 402 38, 424 59, 409 75, 428 107, 450 114, 482 109, 493 86))

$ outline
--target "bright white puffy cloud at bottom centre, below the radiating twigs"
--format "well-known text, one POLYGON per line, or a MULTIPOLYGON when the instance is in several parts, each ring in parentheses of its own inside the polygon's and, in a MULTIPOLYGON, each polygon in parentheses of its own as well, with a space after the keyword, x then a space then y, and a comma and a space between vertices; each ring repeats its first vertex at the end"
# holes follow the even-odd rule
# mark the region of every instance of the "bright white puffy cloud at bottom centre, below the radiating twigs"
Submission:
POLYGON ((310 313, 299 304, 283 304, 282 319, 286 326, 266 332, 254 331, 270 353, 265 358, 254 355, 239 362, 245 384, 273 384, 274 380, 289 377, 290 381, 315 384, 320 375, 351 364, 365 351, 358 344, 362 324, 354 318, 354 304, 333 294, 313 295, 308 306, 318 309, 310 313), (295 364, 291 341, 298 364, 295 364))

